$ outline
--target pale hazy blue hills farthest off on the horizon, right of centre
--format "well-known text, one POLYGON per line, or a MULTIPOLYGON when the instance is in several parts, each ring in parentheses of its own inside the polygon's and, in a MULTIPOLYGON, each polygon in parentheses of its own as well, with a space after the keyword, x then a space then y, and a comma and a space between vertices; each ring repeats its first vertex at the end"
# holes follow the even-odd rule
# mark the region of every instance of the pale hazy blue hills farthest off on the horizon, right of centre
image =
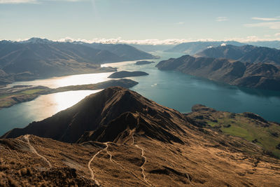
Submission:
POLYGON ((222 44, 235 45, 235 46, 244 46, 245 45, 244 43, 239 43, 237 41, 194 41, 194 42, 180 43, 179 45, 174 46, 173 48, 170 48, 165 51, 194 55, 207 48, 221 46, 222 44))

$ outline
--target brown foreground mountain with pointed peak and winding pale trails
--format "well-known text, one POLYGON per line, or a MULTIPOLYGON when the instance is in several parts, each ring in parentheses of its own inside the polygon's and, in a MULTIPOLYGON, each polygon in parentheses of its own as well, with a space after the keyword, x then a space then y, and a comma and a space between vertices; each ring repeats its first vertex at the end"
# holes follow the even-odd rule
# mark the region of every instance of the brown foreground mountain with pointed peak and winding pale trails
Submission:
POLYGON ((0 140, 2 186, 277 186, 280 177, 260 146, 119 87, 4 137, 16 138, 0 140))

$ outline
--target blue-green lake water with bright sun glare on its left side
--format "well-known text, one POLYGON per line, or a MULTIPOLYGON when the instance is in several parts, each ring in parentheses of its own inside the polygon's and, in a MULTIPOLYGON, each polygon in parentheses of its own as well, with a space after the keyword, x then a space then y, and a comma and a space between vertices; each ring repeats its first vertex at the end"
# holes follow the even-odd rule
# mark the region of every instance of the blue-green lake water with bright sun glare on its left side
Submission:
MULTIPOLYGON (((166 60, 169 57, 180 57, 180 53, 156 53, 166 60)), ((155 64, 135 65, 135 61, 103 64, 102 66, 118 67, 118 71, 146 71, 148 76, 132 77, 139 82, 131 88, 144 97, 164 106, 188 113, 194 104, 204 104, 217 110, 241 113, 251 111, 267 120, 280 122, 280 92, 238 88, 207 81, 195 76, 188 76, 174 71, 159 71, 155 64)), ((36 81, 18 82, 13 85, 45 85, 57 88, 65 85, 78 85, 108 81, 111 73, 83 74, 48 78, 36 81)), ((16 104, 0 110, 0 134, 13 127, 25 127, 34 120, 42 120, 63 109, 76 104, 86 95, 97 90, 59 92, 42 95, 31 102, 16 104)))

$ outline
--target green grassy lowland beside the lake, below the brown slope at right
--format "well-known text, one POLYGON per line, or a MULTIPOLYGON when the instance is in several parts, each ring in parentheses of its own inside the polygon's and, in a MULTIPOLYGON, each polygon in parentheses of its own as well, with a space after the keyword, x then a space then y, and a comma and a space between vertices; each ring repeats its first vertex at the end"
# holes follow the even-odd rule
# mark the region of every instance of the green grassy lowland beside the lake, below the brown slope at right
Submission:
POLYGON ((244 113, 233 115, 233 113, 221 111, 195 112, 191 113, 190 116, 195 120, 197 120, 195 116, 204 116, 200 121, 207 123, 206 127, 214 128, 224 134, 244 138, 262 146, 265 151, 280 158, 280 149, 276 148, 280 144, 280 125, 277 123, 263 123, 244 116, 244 113))

